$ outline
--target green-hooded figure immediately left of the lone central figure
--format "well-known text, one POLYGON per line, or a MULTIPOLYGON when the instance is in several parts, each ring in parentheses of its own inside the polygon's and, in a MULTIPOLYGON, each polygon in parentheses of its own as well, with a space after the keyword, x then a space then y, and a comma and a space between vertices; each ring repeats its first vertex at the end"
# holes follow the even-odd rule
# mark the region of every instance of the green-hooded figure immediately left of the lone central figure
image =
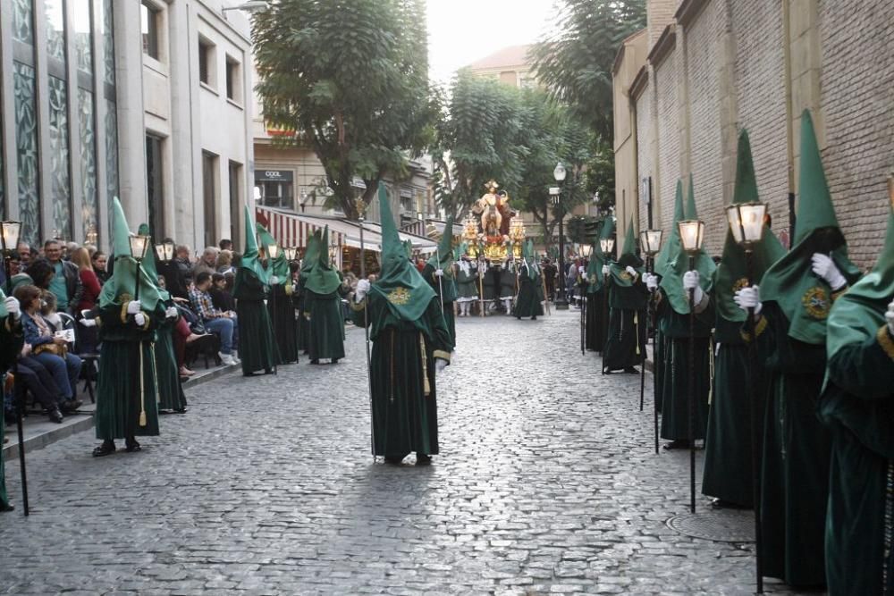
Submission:
POLYGON ((342 317, 342 278, 329 263, 329 226, 314 232, 308 241, 299 281, 304 298, 305 322, 308 323, 308 357, 311 364, 320 358, 333 362, 344 357, 344 318, 342 317), (316 238, 316 242, 313 241, 316 238))

